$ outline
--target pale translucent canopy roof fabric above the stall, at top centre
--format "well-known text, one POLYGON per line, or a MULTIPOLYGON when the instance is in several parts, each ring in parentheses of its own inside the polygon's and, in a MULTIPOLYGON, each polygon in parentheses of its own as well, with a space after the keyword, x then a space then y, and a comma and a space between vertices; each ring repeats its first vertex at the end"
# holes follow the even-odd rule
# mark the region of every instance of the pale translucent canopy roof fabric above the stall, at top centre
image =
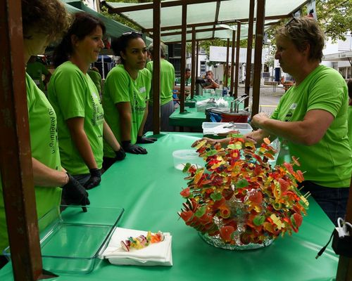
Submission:
MULTIPOLYGON (((175 0, 168 0, 172 2, 175 0)), ((308 0, 309 1, 309 0, 308 0)), ((265 18, 284 18, 296 12, 301 6, 305 5, 307 0, 266 0, 265 1, 265 18)), ((178 1, 180 2, 180 1, 178 1)), ((187 25, 202 24, 203 22, 226 23, 233 22, 234 20, 248 21, 249 18, 249 2, 250 0, 227 0, 220 1, 220 8, 218 13, 218 22, 216 18, 216 5, 217 1, 201 3, 201 4, 188 4, 187 5, 187 25)), ((115 3, 107 2, 109 8, 123 8, 130 6, 140 6, 144 4, 135 3, 115 3)), ((256 6, 255 6, 256 11, 256 6)), ((137 22, 138 25, 145 30, 153 28, 153 9, 148 8, 143 11, 127 11, 121 13, 125 17, 137 22)), ((256 15, 254 15, 256 17, 256 15)), ((182 6, 162 7, 161 8, 161 27, 171 27, 182 25, 182 6)), ((208 26, 213 27, 213 25, 208 26)), ((197 27, 203 29, 205 27, 197 27)), ((246 36, 246 28, 242 30, 241 37, 246 36)), ((213 37, 213 32, 199 32, 196 39, 210 39, 213 37)), ((215 38, 232 38, 231 30, 216 30, 215 38)), ((244 37, 246 38, 246 37, 244 37)), ((243 38, 243 39, 244 39, 243 38)), ((180 41, 181 35, 170 35, 161 37, 164 42, 180 41)), ((191 39, 191 33, 187 34, 187 40, 191 39)))

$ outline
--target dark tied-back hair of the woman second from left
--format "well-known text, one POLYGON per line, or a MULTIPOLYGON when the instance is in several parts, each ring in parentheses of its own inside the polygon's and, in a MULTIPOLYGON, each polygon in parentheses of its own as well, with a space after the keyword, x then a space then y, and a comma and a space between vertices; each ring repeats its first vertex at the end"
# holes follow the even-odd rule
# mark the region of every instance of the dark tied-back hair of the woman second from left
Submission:
POLYGON ((84 37, 94 32, 98 26, 101 27, 103 34, 105 34, 106 27, 99 18, 94 17, 94 15, 89 15, 89 13, 75 13, 73 24, 68 29, 68 32, 63 37, 61 43, 55 48, 53 55, 54 67, 58 67, 62 63, 65 63, 73 53, 73 45, 71 41, 72 35, 75 35, 78 40, 82 40, 84 37))

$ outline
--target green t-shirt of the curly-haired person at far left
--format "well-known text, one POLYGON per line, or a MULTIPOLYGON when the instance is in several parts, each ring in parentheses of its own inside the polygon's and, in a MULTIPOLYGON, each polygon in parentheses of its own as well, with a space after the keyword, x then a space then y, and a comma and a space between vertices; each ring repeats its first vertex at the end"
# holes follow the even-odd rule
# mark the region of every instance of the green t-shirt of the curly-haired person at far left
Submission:
MULTIPOLYGON (((32 157, 51 169, 61 170, 56 132, 56 114, 34 81, 26 74, 28 121, 32 157)), ((11 165, 11 163, 8 163, 11 165)), ((38 218, 61 202, 61 188, 35 186, 38 218)), ((4 197, 0 176, 0 251, 8 246, 4 197)))

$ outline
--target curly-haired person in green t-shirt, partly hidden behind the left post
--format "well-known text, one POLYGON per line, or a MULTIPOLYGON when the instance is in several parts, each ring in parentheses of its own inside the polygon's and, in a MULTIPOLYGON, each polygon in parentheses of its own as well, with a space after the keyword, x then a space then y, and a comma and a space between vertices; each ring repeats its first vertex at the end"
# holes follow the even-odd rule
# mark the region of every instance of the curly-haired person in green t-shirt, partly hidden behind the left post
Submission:
MULTIPOLYGON (((23 55, 27 63, 32 55, 44 53, 46 46, 67 30, 70 16, 59 0, 23 0, 21 6, 23 55)), ((28 74, 25 83, 38 218, 59 206, 61 190, 66 203, 89 204, 86 190, 61 167, 53 107, 28 74)), ((8 235, 0 175, 0 253, 6 246, 8 235)), ((4 263, 4 256, 0 256, 0 268, 4 263)))

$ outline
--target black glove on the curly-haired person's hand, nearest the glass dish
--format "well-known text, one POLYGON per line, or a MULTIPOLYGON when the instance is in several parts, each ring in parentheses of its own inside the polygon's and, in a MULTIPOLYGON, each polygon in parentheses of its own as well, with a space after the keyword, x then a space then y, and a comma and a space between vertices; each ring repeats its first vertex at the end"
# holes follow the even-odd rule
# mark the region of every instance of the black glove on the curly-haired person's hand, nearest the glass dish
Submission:
POLYGON ((68 183, 63 185, 63 194, 65 204, 75 205, 89 205, 88 192, 85 188, 75 179, 73 176, 68 174, 68 183))

